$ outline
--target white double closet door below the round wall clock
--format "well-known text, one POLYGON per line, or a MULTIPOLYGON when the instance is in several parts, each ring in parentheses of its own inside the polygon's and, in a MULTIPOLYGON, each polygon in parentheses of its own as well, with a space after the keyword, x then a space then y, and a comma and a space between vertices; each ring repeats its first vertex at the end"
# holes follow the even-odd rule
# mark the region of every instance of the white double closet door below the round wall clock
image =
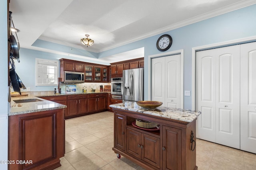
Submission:
POLYGON ((181 106, 180 54, 152 59, 151 100, 163 102, 162 106, 181 106))

